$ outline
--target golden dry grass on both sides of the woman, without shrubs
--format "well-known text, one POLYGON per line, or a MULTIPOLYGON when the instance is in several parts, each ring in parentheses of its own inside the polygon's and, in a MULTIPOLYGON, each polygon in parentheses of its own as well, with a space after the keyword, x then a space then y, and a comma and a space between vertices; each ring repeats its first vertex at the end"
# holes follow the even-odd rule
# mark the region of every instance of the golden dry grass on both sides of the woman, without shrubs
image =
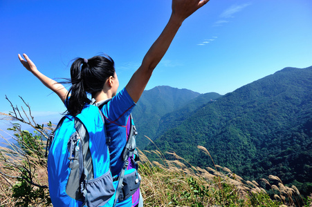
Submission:
MULTIPOLYGON (((10 144, 12 147, 13 145, 10 144)), ((199 146, 206 154, 210 155, 207 149, 199 146)), ((192 206, 202 204, 203 206, 250 206, 250 197, 266 194, 266 190, 261 188, 256 181, 245 181, 235 175, 230 169, 214 164, 213 168, 199 168, 192 166, 175 152, 167 152, 175 159, 167 160, 160 150, 142 151, 140 154, 139 172, 142 176, 141 192, 145 206, 192 206), (149 161, 145 154, 154 154, 159 157, 158 161, 149 161)), ((14 199, 12 188, 19 181, 19 168, 11 166, 8 168, 8 161, 12 166, 31 166, 33 183, 40 186, 48 186, 48 175, 46 166, 42 164, 42 159, 34 158, 30 155, 21 155, 18 148, 9 150, 1 149, 0 161, 0 201, 3 206, 16 206, 23 197, 14 199), (12 159, 12 154, 15 155, 12 159), (7 162, 6 162, 7 161, 7 162), (10 175, 4 176, 4 175, 10 175)), ((269 179, 278 181, 277 185, 271 185, 267 179, 261 179, 275 190, 275 199, 285 206, 293 206, 294 195, 300 196, 299 190, 295 186, 284 186, 282 181, 273 175, 269 179), (288 203, 286 202, 288 198, 288 203)), ((36 190, 37 187, 34 188, 36 190)), ((47 189, 46 189, 47 190, 47 189)), ((295 197, 297 199, 297 197, 295 197)), ((297 200, 297 202, 299 202, 297 200)), ((33 201, 34 206, 46 206, 45 201, 38 199, 33 201)))

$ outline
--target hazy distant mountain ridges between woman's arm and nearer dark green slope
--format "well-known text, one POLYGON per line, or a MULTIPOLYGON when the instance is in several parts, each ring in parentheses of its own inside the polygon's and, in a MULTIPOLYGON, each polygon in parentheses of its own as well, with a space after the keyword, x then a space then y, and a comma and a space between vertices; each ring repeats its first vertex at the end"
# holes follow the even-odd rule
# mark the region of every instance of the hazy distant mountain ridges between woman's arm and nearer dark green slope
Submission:
POLYGON ((145 90, 132 112, 138 129, 136 139, 138 148, 143 149, 149 144, 145 136, 154 140, 168 128, 173 128, 181 117, 187 117, 199 106, 207 103, 207 100, 219 97, 221 95, 216 92, 201 95, 192 90, 169 86, 157 86, 151 90, 145 90))

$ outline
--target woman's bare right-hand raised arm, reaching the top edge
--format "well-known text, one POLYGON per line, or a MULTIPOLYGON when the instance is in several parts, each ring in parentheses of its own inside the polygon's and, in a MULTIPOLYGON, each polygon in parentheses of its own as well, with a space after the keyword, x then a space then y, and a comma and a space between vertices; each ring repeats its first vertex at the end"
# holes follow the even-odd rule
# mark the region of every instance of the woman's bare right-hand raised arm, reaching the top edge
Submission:
POLYGON ((196 10, 204 6, 208 1, 209 0, 172 0, 172 14, 167 26, 165 26, 165 29, 153 43, 152 47, 149 48, 140 68, 134 72, 134 75, 126 86, 126 90, 134 102, 140 99, 149 78, 152 76, 154 68, 156 68, 167 52, 167 49, 183 21, 196 10))

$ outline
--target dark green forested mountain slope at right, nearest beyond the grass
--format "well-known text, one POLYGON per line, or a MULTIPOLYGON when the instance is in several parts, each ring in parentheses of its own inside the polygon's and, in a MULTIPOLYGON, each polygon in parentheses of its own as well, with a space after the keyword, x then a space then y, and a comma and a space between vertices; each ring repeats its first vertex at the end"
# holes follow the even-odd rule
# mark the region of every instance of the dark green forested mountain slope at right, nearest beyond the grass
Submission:
POLYGON ((163 134, 154 142, 194 166, 211 167, 210 157, 196 148, 201 145, 214 163, 245 179, 276 175, 312 192, 311 108, 312 66, 284 68, 217 101, 191 101, 164 115, 159 126, 163 134))

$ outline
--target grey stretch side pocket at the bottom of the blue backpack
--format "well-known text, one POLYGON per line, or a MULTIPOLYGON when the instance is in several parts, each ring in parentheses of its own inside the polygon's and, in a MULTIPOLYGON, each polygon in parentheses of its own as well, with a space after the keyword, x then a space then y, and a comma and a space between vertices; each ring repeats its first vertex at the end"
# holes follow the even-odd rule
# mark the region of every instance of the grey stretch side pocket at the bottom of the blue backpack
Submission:
POLYGON ((85 182, 86 206, 104 206, 114 195, 111 172, 85 182))

